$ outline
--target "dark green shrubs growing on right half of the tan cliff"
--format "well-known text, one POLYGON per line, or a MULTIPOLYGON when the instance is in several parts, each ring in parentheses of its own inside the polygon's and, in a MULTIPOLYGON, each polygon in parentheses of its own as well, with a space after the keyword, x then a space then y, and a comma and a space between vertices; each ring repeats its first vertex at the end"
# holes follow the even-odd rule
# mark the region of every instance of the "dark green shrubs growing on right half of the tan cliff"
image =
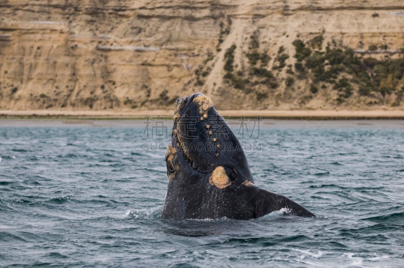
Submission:
MULTIPOLYGON (((251 35, 251 43, 255 45, 250 45, 250 51, 244 55, 244 62, 248 62, 248 65, 238 70, 233 66, 236 46, 233 44, 226 50, 224 79, 228 85, 246 94, 255 93, 257 100, 274 95, 274 89, 280 84, 279 74, 288 65, 285 90, 293 90, 296 80, 304 81, 308 85, 307 93, 299 96, 303 104, 330 89, 336 94, 326 101, 334 105, 360 97, 366 97, 366 105, 398 106, 403 101, 402 57, 392 59, 386 55, 383 59, 375 59, 358 56, 351 48, 338 46, 335 41, 324 45, 323 36, 318 35, 307 41, 295 39, 292 42, 295 49, 293 66, 281 45, 272 67, 268 67, 271 57, 267 52, 259 52, 255 38, 251 35), (278 74, 274 75, 269 69, 278 74)), ((374 47, 378 49, 376 45, 371 45, 369 50, 373 51, 374 47)), ((386 46, 380 45, 380 48, 386 49, 386 46)))

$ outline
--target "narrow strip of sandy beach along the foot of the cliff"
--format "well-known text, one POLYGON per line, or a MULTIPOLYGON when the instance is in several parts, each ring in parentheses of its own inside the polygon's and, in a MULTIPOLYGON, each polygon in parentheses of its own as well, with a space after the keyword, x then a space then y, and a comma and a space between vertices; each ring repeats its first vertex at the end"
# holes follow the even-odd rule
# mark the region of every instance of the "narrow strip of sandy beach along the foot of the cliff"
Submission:
MULTIPOLYGON (((282 120, 404 120, 404 110, 219 110, 223 117, 262 118, 282 120)), ((32 110, 12 111, 0 110, 1 119, 172 119, 172 110, 147 111, 58 111, 32 110)))

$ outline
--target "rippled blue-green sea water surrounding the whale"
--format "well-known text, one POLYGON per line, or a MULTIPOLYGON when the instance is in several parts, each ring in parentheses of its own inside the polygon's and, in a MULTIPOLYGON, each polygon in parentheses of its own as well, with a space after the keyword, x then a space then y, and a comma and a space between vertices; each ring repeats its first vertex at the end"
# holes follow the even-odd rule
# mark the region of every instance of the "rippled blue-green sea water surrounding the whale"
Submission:
POLYGON ((143 123, 0 120, 0 266, 404 265, 403 121, 233 122, 256 184, 317 215, 249 221, 161 219, 143 123))

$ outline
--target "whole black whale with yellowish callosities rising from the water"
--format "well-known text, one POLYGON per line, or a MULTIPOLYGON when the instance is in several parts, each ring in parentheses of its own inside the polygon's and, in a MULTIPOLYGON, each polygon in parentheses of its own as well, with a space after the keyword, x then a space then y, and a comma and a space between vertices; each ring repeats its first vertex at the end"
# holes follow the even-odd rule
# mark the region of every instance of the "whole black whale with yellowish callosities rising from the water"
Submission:
POLYGON ((181 97, 174 110, 163 219, 248 220, 282 208, 291 215, 315 217, 289 198, 254 184, 240 143, 209 97, 181 97))

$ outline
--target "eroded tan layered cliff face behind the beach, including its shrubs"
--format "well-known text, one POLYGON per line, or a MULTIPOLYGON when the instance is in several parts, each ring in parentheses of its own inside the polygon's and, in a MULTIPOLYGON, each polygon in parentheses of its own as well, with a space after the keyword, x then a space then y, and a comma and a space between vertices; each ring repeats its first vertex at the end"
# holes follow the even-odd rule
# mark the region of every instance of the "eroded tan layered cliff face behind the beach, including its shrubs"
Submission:
POLYGON ((0 109, 401 109, 403 50, 399 0, 2 1, 0 109))

